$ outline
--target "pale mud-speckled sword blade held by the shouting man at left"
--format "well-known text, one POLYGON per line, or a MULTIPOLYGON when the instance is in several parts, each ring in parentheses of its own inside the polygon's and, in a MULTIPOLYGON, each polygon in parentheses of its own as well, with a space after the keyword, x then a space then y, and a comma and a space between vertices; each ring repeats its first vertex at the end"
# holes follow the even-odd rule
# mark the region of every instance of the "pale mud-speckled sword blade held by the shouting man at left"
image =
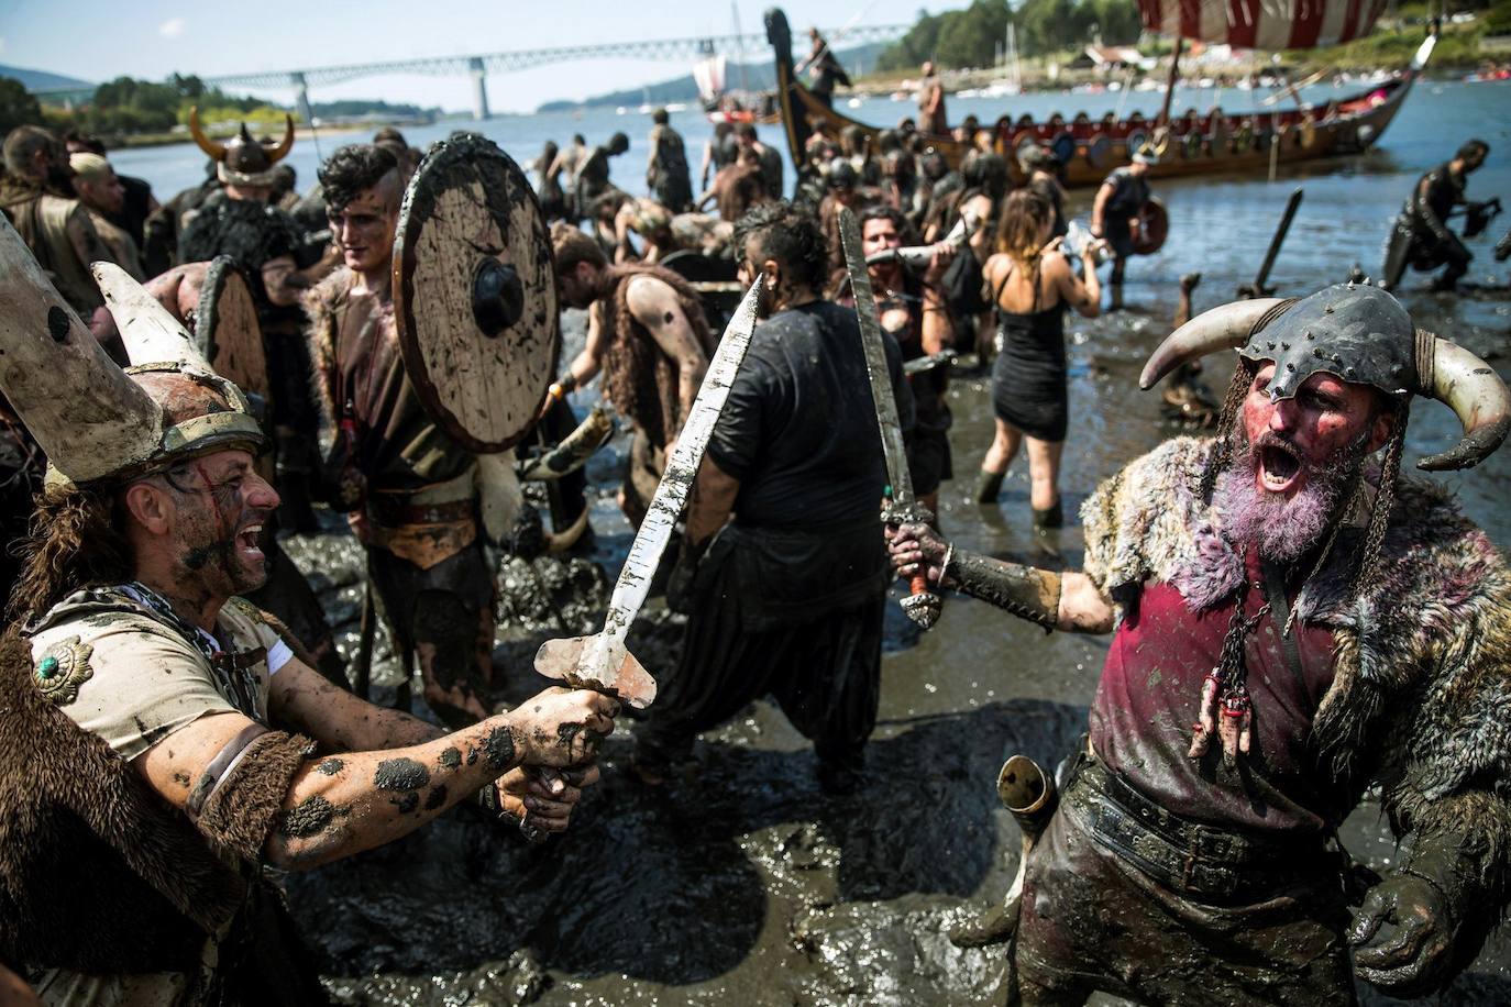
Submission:
POLYGON ((677 447, 666 459, 666 471, 662 474, 656 495, 651 497, 650 507, 641 530, 635 534, 630 554, 620 571, 620 580, 613 584, 613 595, 609 598, 609 613, 603 621, 603 633, 594 637, 583 648, 577 678, 612 687, 624 664, 624 637, 630 631, 630 624, 645 604, 645 596, 651 589, 651 577, 660 563, 662 553, 671 540, 671 533, 688 504, 692 483, 698 477, 698 465, 703 453, 709 447, 713 426, 724 412, 724 402, 730 397, 730 385, 749 349, 751 335, 756 332, 756 300, 760 297, 762 279, 757 278, 740 300, 740 306, 724 329, 719 349, 709 362, 709 370, 703 376, 698 397, 692 403, 688 421, 677 438, 677 447))

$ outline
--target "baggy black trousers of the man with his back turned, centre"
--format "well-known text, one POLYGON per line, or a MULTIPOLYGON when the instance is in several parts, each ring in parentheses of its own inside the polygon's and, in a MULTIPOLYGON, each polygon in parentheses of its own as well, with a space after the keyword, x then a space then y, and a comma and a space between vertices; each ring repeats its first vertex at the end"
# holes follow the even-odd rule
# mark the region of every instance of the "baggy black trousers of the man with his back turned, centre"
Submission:
MULTIPOLYGON (((843 537, 836 536, 842 548, 843 537)), ((766 569, 749 556, 759 547, 746 539, 745 556, 721 556, 728 547, 728 537, 710 547, 698 571, 681 660, 650 708, 636 761, 654 768, 678 762, 700 732, 771 696, 813 741, 820 762, 858 770, 881 696, 884 581, 863 584, 851 604, 813 605, 805 619, 771 619, 752 611, 762 602, 759 571, 766 569)), ((765 595, 772 593, 768 580, 765 595)))

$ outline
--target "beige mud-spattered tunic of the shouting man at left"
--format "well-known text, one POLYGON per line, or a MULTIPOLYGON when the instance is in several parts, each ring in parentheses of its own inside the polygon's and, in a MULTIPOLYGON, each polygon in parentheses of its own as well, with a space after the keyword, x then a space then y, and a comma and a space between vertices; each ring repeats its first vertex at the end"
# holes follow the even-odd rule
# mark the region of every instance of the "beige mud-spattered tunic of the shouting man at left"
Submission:
MULTIPOLYGON (((27 627, 44 694, 70 720, 101 738, 125 761, 199 717, 240 713, 267 725, 269 679, 293 657, 289 645, 233 598, 216 634, 178 619, 141 584, 82 590, 27 627)), ((103 975, 62 968, 30 975, 44 1004, 168 1007, 196 1002, 216 968, 212 935, 201 974, 103 975), (196 992, 198 990, 198 992, 196 992)))

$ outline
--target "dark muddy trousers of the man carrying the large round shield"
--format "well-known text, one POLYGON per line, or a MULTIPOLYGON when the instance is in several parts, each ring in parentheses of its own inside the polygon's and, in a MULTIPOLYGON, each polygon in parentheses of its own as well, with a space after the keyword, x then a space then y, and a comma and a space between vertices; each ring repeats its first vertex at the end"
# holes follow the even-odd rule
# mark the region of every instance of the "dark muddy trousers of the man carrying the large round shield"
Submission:
POLYGON ((477 722, 493 679, 494 584, 482 542, 473 542, 429 569, 369 547, 367 575, 393 636, 394 649, 414 654, 425 701, 450 728, 477 722))

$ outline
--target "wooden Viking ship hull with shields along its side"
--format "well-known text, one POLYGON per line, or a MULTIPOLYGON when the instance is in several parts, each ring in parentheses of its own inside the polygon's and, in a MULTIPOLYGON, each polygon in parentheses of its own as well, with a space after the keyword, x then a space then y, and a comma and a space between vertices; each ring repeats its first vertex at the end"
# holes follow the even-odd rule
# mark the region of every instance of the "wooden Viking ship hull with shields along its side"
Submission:
MULTIPOLYGON (((840 131, 851 127, 866 133, 872 139, 872 149, 876 149, 875 137, 881 127, 857 122, 825 107, 798 80, 792 65, 787 18, 780 9, 766 12, 766 38, 777 56, 777 107, 793 163, 801 166, 805 162, 804 148, 814 133, 837 142, 840 131)), ((991 148, 1006 159, 1014 184, 1024 181, 1017 151, 1029 145, 1055 151, 1065 166, 1062 180, 1068 187, 1100 184, 1114 168, 1130 163, 1133 151, 1145 142, 1160 151, 1159 163, 1150 166, 1151 178, 1268 172, 1272 165, 1367 149, 1401 110, 1429 53, 1431 45, 1423 44, 1417 59, 1399 77, 1328 101, 1322 107, 1231 115, 1221 109, 1207 113, 1189 109, 1171 115, 1168 125, 1145 119, 1141 113, 1126 119, 1115 119, 1112 113, 1100 119, 1085 113, 1067 119, 1056 113, 1044 122, 1035 122, 1029 115, 1017 119, 1003 115, 996 124, 982 124, 981 128, 991 133, 991 148)), ((972 143, 953 136, 925 134, 923 139, 944 156, 950 168, 959 168, 972 149, 972 143)))

